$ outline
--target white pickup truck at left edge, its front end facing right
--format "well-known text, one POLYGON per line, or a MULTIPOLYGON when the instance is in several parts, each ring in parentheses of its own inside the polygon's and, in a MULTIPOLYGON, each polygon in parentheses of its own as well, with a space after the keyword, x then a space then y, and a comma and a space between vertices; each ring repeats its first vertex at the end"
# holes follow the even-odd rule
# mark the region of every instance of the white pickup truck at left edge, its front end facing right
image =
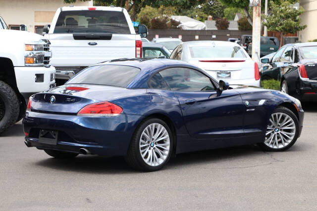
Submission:
POLYGON ((43 36, 8 30, 0 17, 0 133, 23 118, 29 96, 55 85, 51 56, 43 36))

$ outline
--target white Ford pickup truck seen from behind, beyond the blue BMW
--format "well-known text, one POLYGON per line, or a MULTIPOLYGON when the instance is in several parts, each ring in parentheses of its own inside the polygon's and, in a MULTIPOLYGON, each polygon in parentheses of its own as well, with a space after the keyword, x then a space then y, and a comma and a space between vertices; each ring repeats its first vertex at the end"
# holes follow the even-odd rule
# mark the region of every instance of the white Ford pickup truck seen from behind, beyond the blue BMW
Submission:
POLYGON ((50 40, 56 84, 64 84, 84 68, 106 60, 142 57, 145 25, 134 29, 126 9, 114 6, 66 6, 44 27, 50 40))

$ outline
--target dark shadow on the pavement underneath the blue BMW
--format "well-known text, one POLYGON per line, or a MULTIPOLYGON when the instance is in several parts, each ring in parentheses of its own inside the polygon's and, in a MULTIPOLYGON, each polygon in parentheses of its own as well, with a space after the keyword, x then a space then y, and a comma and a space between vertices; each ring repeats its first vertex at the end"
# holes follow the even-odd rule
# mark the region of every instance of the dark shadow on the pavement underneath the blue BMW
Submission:
MULTIPOLYGON (((303 143, 300 146, 295 144, 288 151, 303 151, 307 147, 309 146, 305 146, 303 143)), ((231 159, 253 159, 255 156, 267 156, 269 153, 270 152, 263 152, 261 148, 256 145, 183 153, 171 158, 169 163, 162 170, 178 169, 186 166, 204 165, 221 161, 230 162, 231 159)), ((49 158, 37 162, 36 165, 82 173, 140 173, 139 171, 131 169, 122 157, 106 158, 93 155, 79 155, 74 159, 68 160, 49 158)))

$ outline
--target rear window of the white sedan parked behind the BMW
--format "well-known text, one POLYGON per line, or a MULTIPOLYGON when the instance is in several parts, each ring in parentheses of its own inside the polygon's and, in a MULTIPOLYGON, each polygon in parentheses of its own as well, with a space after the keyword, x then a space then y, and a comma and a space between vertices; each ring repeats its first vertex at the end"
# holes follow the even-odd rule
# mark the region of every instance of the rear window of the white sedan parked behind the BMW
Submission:
POLYGON ((243 49, 239 46, 191 46, 192 58, 245 58, 243 49))

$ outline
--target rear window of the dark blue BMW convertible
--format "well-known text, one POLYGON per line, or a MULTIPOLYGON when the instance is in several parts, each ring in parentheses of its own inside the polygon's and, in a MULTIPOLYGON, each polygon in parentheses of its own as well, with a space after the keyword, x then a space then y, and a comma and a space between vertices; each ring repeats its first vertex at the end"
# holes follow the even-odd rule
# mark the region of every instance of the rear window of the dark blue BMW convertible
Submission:
POLYGON ((87 68, 67 84, 99 84, 127 87, 140 69, 122 65, 99 65, 87 68))

